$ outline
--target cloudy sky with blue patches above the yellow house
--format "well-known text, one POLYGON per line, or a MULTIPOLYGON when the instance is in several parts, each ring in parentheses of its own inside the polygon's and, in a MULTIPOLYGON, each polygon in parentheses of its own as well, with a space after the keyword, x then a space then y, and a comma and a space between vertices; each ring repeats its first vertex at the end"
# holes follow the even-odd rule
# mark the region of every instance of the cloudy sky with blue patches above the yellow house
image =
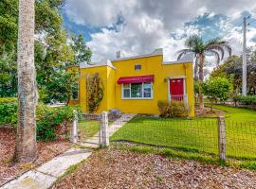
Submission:
POLYGON ((221 37, 242 50, 242 21, 250 16, 247 45, 256 44, 255 0, 66 0, 64 24, 81 33, 93 52, 92 61, 133 56, 164 49, 174 60, 192 34, 205 41, 221 37))

